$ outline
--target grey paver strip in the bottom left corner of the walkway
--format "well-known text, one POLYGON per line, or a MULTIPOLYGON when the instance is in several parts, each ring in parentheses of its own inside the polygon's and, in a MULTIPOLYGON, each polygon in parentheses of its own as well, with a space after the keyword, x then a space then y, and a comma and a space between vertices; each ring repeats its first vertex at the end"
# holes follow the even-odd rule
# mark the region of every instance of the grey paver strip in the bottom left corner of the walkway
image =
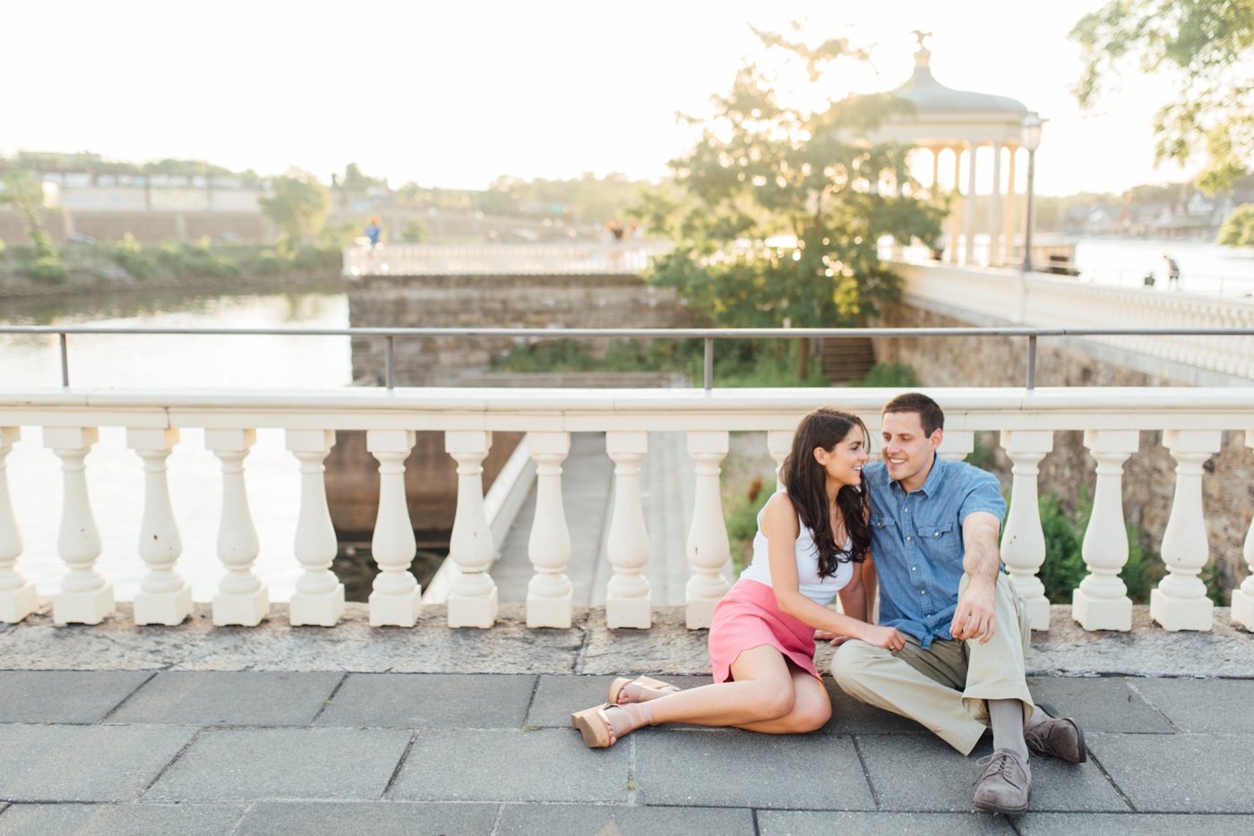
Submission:
POLYGON ((245 810, 245 805, 213 803, 13 805, 0 813, 0 836, 223 836, 245 810))

